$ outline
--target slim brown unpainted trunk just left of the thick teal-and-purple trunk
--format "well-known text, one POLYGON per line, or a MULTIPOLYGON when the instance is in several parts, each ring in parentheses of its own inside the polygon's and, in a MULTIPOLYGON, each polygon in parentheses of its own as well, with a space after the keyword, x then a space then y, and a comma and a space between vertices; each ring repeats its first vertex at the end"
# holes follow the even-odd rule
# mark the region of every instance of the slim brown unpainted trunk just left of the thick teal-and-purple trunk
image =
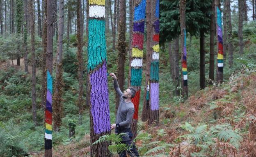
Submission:
POLYGON ((77 40, 78 40, 78 82, 79 82, 79 90, 78 90, 78 114, 79 114, 79 124, 82 124, 82 109, 83 109, 83 95, 84 95, 84 83, 83 83, 83 57, 82 57, 82 30, 81 30, 81 23, 82 22, 82 15, 81 15, 81 0, 77 0, 77 8, 76 8, 76 15, 77 15, 77 40))

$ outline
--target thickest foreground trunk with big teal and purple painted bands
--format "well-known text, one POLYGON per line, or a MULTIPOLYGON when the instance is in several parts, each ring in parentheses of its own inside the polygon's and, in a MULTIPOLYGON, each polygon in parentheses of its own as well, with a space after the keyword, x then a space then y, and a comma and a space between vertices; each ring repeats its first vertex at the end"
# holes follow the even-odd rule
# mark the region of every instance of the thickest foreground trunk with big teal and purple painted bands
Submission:
MULTIPOLYGON (((105 40, 105 0, 89 0, 88 77, 91 144, 110 134, 105 40)), ((107 157, 108 142, 91 145, 91 157, 107 157)))

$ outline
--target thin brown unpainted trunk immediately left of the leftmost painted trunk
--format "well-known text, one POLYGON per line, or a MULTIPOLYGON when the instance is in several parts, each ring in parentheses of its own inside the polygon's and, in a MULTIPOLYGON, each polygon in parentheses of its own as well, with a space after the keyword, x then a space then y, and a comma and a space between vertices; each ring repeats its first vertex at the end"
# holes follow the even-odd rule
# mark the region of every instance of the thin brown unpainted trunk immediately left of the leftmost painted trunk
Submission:
POLYGON ((47 0, 43 1, 43 32, 42 32, 42 44, 43 44, 43 51, 41 54, 42 57, 42 63, 41 63, 41 69, 42 69, 42 83, 41 83, 41 106, 45 108, 46 106, 46 48, 47 48, 47 0))

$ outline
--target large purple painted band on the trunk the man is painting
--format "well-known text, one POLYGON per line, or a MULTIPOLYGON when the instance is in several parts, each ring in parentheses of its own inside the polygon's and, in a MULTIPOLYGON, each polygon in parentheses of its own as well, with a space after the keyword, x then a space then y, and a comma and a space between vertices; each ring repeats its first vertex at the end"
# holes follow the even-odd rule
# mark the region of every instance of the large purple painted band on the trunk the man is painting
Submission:
POLYGON ((107 90, 107 67, 102 67, 90 75, 91 81, 91 114, 94 123, 94 133, 110 131, 110 110, 107 90))

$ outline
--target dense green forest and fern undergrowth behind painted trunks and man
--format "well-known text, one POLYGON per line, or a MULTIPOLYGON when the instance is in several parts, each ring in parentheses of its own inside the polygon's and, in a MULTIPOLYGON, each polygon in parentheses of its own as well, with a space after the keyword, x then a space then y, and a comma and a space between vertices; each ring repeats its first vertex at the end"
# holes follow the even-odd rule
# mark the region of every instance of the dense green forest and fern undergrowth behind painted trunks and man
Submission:
MULTIPOLYGON (((121 89, 131 85, 133 13, 142 1, 105 1, 107 73, 117 74, 121 89)), ((49 34, 53 40, 52 155, 86 157, 92 152, 87 74, 89 2, 94 0, 53 0, 52 32, 48 32, 47 2, 0 0, 0 157, 45 155, 49 34)), ((149 31, 146 18, 141 96, 138 119, 133 121, 140 155, 255 157, 256 1, 160 0, 159 8, 159 115, 150 122, 145 116, 151 112, 143 109, 152 46, 147 41, 154 32, 149 31), (216 74, 220 63, 217 4, 223 33, 222 77, 216 74), (184 42, 187 88, 181 77, 184 42)), ((107 80, 112 124, 117 97, 112 79, 107 80)), ((108 148, 117 155, 118 145, 108 148)))

